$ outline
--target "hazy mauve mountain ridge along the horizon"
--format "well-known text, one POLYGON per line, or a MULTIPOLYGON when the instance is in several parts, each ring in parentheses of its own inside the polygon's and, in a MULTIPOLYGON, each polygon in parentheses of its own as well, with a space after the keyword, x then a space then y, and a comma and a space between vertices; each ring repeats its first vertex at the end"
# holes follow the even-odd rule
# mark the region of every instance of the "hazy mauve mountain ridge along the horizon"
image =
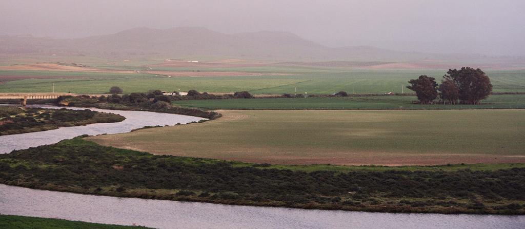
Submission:
POLYGON ((246 58, 353 61, 420 61, 482 58, 481 55, 425 54, 370 46, 331 48, 288 32, 224 34, 203 27, 132 28, 109 35, 75 39, 0 36, 0 53, 97 55, 166 54, 246 58))

